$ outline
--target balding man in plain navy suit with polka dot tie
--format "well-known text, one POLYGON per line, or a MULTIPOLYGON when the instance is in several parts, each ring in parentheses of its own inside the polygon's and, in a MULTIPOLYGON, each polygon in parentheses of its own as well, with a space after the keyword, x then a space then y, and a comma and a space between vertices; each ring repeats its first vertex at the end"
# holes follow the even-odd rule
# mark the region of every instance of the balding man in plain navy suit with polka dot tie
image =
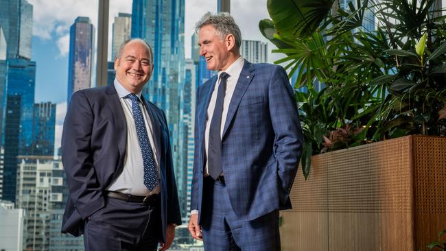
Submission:
POLYGON ((153 52, 126 41, 113 85, 78 91, 62 132, 69 198, 62 232, 84 234, 85 250, 167 250, 181 223, 163 110, 141 91, 153 52))

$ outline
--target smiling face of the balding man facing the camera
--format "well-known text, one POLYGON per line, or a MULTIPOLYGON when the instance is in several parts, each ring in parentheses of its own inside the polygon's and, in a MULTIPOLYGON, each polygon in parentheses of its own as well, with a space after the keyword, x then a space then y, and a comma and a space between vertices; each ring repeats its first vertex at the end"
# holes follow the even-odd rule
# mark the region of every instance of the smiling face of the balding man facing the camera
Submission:
POLYGON ((117 81, 131 93, 139 93, 152 75, 150 50, 143 42, 130 41, 115 59, 117 81))

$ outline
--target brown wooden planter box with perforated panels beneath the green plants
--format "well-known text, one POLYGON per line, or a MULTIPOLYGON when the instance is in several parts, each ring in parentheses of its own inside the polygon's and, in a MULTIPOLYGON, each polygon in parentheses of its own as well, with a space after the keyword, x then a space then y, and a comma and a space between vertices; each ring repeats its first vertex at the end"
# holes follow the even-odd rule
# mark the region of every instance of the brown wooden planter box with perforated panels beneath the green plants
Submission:
POLYGON ((313 156, 291 200, 293 209, 281 211, 283 250, 417 251, 446 229, 446 137, 313 156))

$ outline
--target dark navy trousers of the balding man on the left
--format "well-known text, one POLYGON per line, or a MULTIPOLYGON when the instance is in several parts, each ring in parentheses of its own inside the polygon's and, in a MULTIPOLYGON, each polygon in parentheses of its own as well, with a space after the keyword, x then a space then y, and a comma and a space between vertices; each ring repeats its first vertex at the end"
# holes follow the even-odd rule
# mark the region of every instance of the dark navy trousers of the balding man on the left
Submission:
POLYGON ((156 250, 161 237, 160 206, 159 202, 148 206, 106 198, 106 206, 85 222, 85 250, 156 250))

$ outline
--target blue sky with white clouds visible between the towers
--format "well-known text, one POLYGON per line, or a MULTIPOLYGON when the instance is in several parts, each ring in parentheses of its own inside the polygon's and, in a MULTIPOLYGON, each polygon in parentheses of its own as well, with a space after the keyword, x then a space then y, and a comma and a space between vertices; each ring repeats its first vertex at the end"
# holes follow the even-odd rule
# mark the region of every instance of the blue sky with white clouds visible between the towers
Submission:
MULTIPOLYGON (((77 16, 88 16, 97 29, 97 0, 28 1, 33 5, 32 60, 37 63, 36 101, 62 103, 67 97, 69 27, 77 16)), ((202 14, 208 11, 215 12, 216 8, 217 0, 185 1, 185 53, 187 58, 190 57, 193 25, 202 14)), ((258 29, 259 20, 268 18, 266 0, 233 0, 231 10, 235 21, 242 29, 244 39, 266 42, 258 29), (249 6, 249 10, 246 9, 246 6, 249 6)), ((109 55, 113 20, 118 12, 131 13, 131 11, 132 0, 110 0, 109 55)), ((268 45, 268 49, 272 49, 271 44, 268 45)))

